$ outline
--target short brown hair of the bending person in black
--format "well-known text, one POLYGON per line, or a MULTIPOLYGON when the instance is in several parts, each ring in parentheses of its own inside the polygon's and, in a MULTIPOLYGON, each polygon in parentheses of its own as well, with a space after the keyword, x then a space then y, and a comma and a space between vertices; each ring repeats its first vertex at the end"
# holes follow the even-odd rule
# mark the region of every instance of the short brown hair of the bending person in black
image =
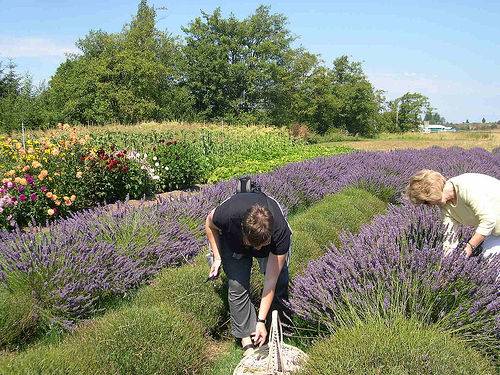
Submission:
POLYGON ((266 207, 255 204, 245 212, 242 221, 243 235, 251 246, 271 242, 274 218, 266 207))

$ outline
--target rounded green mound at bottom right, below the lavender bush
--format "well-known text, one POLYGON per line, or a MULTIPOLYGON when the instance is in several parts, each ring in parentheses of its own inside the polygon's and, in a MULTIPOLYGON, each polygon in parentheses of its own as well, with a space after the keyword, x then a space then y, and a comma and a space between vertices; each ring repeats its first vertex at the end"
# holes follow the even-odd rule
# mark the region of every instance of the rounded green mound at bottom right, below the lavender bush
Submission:
POLYGON ((309 352, 308 375, 494 375, 479 353, 448 333, 399 318, 339 329, 309 352))

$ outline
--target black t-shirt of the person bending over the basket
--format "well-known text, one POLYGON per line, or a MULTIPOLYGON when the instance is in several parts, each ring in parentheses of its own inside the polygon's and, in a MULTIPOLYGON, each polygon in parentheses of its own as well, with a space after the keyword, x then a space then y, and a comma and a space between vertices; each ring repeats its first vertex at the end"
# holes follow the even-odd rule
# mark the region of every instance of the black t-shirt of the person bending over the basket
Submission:
POLYGON ((264 193, 236 193, 215 209, 213 222, 221 230, 221 251, 249 254, 265 258, 269 253, 286 254, 290 249, 292 231, 278 202, 264 193), (271 243, 260 250, 243 244, 241 223, 245 213, 254 204, 266 207, 273 215, 271 243))

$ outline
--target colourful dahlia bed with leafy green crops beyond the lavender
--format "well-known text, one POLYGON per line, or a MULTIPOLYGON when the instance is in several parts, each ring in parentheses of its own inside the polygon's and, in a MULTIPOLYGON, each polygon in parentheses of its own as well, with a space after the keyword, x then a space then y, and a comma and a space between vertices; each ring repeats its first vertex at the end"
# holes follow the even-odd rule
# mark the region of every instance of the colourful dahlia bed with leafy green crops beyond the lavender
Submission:
POLYGON ((0 135, 0 228, 346 152, 286 129, 145 123, 0 135))

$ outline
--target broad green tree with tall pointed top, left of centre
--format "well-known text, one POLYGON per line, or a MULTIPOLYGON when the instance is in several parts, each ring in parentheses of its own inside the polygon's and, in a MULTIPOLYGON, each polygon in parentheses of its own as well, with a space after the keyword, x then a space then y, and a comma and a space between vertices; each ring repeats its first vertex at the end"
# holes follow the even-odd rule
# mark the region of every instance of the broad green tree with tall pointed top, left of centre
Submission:
POLYGON ((177 40, 155 28, 145 0, 122 32, 91 31, 77 42, 50 81, 52 121, 79 123, 163 120, 186 116, 191 102, 179 71, 177 40))

